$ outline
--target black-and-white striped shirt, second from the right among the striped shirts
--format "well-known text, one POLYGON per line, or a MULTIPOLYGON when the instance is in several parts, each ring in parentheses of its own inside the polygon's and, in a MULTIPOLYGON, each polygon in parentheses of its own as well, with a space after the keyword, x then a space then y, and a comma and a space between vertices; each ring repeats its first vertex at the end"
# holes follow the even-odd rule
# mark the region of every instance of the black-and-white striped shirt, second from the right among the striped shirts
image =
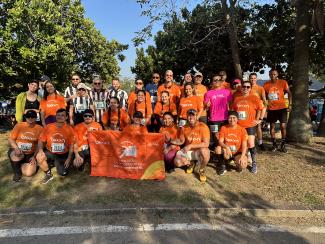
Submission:
POLYGON ((96 122, 101 122, 102 116, 108 108, 108 92, 104 89, 100 91, 91 90, 89 92, 89 96, 92 99, 95 107, 95 120, 96 122))

